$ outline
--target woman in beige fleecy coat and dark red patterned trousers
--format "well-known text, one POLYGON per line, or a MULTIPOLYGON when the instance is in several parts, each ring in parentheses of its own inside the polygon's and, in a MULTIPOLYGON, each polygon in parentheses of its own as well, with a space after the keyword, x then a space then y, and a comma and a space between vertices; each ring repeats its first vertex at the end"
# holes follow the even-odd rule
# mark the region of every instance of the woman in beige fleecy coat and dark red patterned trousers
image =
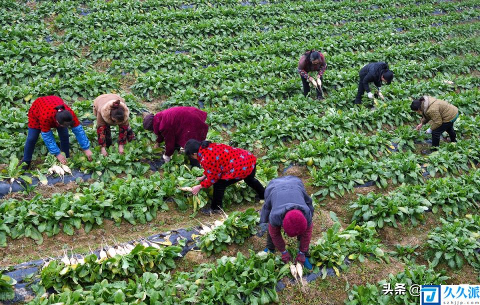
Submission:
POLYGON ((135 139, 128 123, 130 110, 125 100, 118 94, 102 94, 93 101, 93 114, 96 116, 96 134, 101 154, 107 156, 106 147, 111 145, 110 126, 118 125, 118 153, 123 153, 123 145, 135 139))

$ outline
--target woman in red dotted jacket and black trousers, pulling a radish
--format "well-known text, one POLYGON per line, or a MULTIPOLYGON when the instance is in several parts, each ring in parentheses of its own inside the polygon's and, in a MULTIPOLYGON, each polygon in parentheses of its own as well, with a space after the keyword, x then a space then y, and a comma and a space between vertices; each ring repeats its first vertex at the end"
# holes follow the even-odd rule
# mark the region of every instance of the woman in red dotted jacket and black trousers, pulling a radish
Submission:
POLYGON ((225 188, 240 180, 244 180, 263 199, 265 188, 255 178, 256 157, 251 152, 225 144, 190 139, 185 144, 185 154, 196 158, 203 168, 203 176, 197 178, 201 182, 193 186, 192 193, 196 195, 201 188, 213 185, 211 206, 203 208, 203 213, 218 212, 222 207, 225 188))

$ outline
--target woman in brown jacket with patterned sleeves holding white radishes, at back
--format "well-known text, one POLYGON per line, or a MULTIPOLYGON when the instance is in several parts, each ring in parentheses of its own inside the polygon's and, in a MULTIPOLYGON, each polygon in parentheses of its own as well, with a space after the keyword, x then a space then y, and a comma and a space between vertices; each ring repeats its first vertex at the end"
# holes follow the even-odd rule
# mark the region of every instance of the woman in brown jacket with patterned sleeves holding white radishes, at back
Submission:
POLYGON ((303 55, 301 55, 300 60, 298 61, 298 73, 300 73, 301 83, 303 84, 303 95, 306 96, 310 92, 310 85, 308 82, 318 82, 320 83, 316 87, 316 99, 323 99, 321 90, 321 83, 323 82, 323 73, 326 69, 325 57, 322 53, 316 50, 310 50, 303 55), (318 71, 316 79, 309 76, 308 72, 318 71))

